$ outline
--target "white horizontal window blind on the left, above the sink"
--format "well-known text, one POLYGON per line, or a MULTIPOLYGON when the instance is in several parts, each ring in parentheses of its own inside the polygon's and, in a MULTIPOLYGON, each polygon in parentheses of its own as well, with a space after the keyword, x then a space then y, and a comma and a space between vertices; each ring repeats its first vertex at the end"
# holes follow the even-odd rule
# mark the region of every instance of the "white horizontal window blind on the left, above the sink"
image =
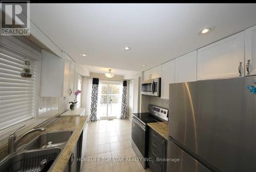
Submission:
POLYGON ((0 45, 0 130, 35 116, 38 71, 31 61, 32 78, 22 78, 24 54, 0 45))

